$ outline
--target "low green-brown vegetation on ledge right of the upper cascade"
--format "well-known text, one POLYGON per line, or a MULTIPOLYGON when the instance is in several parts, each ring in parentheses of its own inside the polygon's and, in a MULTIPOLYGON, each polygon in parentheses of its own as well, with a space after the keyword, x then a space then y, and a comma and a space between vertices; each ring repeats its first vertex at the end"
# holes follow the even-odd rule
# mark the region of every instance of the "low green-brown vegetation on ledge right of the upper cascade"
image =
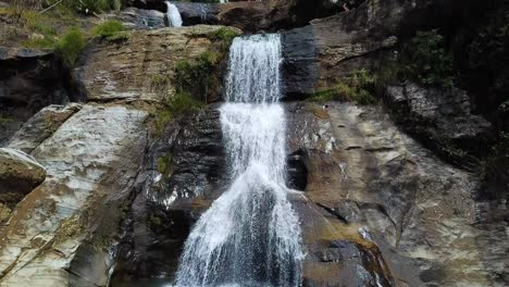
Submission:
POLYGON ((375 78, 365 70, 353 71, 343 82, 331 89, 321 90, 311 98, 313 101, 353 101, 359 104, 371 104, 375 102, 373 88, 375 78))

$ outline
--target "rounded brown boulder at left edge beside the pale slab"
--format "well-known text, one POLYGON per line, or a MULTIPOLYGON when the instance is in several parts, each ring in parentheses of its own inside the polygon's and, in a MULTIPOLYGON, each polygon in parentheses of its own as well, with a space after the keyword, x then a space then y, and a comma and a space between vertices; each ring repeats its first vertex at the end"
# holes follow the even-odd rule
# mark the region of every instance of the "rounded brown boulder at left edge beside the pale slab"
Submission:
POLYGON ((0 223, 45 178, 45 169, 30 155, 14 149, 0 149, 0 223))

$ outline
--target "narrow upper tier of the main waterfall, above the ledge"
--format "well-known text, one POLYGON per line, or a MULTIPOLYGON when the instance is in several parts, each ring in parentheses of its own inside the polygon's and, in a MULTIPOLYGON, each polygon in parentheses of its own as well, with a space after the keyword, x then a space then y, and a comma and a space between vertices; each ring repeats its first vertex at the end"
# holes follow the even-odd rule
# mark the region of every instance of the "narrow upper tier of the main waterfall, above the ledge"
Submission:
POLYGON ((229 48, 228 102, 271 103, 281 98, 278 34, 237 37, 229 48))

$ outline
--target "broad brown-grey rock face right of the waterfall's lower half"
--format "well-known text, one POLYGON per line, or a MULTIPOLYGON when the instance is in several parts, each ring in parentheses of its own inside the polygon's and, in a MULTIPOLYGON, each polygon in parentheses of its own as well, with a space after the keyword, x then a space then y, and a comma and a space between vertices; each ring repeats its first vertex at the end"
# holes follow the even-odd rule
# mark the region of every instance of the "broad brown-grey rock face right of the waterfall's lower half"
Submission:
MULTIPOLYGON (((351 275, 326 272, 332 267, 326 262, 338 258, 335 240, 367 247, 363 238, 381 250, 393 275, 385 278, 394 285, 507 284, 499 276, 507 261, 502 255, 508 239, 502 234, 507 225, 500 216, 504 207, 479 201, 474 175, 435 158, 398 132, 378 108, 295 103, 288 107, 288 116, 290 151, 307 155, 306 202, 314 214, 324 214, 330 222, 327 234, 334 235, 322 247, 310 249, 306 278, 320 278, 316 286, 331 286, 327 283, 337 279, 337 274, 351 275)), ((301 214, 306 226, 313 216, 301 214)), ((303 227, 305 238, 307 228, 316 226, 303 227)), ((325 237, 316 229, 309 234, 314 242, 325 237)), ((376 249, 371 251, 373 261, 376 249)), ((377 266, 377 272, 386 274, 383 263, 377 266)), ((346 286, 371 286, 350 282, 346 286)))

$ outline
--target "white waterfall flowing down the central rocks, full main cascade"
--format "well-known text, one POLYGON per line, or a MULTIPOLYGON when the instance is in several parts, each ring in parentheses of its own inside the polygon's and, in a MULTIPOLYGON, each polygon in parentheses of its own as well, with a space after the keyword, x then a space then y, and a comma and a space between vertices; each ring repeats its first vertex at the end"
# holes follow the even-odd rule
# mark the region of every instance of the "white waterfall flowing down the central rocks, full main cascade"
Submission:
POLYGON ((232 185, 191 230, 178 287, 300 285, 300 227, 284 178, 281 61, 278 35, 239 37, 232 45, 220 109, 232 185))

